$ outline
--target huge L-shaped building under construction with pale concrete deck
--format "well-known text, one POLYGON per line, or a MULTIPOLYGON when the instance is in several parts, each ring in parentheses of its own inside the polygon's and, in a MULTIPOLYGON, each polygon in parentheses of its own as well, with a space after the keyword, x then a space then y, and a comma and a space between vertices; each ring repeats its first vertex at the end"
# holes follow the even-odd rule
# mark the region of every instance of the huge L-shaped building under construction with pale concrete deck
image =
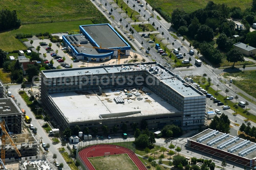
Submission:
POLYGON ((63 128, 205 124, 206 96, 156 62, 44 70, 40 83, 45 110, 63 128))

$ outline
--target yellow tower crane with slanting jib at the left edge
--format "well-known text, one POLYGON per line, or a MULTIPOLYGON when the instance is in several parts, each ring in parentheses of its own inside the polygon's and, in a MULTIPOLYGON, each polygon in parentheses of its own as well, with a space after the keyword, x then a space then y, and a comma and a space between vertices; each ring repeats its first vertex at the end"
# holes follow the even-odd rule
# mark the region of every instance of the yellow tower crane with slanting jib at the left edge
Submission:
MULTIPOLYGON (((1 137, 2 140, 2 145, 1 145, 1 159, 3 161, 3 164, 5 164, 5 138, 7 137, 10 144, 12 145, 12 147, 14 147, 16 153, 19 155, 19 157, 21 157, 21 154, 18 150, 18 148, 16 147, 16 145, 14 144, 12 138, 9 136, 8 132, 5 129, 5 121, 4 119, 0 119, 0 127, 3 131, 3 135, 1 137)), ((3 165, 1 165, 1 167, 3 167, 3 165)))

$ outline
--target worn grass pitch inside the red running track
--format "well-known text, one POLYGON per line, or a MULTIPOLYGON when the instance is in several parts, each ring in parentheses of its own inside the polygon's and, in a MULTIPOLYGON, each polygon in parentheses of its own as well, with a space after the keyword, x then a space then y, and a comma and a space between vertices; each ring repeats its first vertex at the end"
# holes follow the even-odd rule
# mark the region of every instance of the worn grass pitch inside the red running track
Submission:
POLYGON ((101 169, 138 169, 127 154, 88 158, 96 170, 101 169))

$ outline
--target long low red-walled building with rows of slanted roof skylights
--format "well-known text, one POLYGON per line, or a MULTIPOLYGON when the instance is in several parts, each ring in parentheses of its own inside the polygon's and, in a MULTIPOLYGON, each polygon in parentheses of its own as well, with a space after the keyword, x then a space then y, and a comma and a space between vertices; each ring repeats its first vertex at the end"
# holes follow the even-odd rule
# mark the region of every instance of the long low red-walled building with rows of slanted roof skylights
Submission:
POLYGON ((188 147, 226 160, 255 167, 256 144, 216 130, 206 129, 187 141, 188 147))

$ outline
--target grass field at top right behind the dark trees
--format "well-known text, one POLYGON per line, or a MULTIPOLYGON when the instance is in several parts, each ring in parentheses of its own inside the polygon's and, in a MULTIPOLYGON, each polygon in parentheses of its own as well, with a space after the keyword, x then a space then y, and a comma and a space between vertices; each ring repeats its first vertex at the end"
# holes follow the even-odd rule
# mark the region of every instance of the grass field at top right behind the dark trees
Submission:
MULTIPOLYGON (((176 8, 184 9, 186 12, 190 13, 199 8, 204 8, 208 1, 201 1, 201 0, 146 0, 148 4, 150 4, 153 8, 161 7, 167 14, 170 16, 172 12, 176 8)), ((242 10, 246 9, 248 6, 251 6, 251 0, 244 0, 244 1, 235 1, 235 0, 212 0, 214 3, 225 3, 228 7, 240 7, 242 10)))

